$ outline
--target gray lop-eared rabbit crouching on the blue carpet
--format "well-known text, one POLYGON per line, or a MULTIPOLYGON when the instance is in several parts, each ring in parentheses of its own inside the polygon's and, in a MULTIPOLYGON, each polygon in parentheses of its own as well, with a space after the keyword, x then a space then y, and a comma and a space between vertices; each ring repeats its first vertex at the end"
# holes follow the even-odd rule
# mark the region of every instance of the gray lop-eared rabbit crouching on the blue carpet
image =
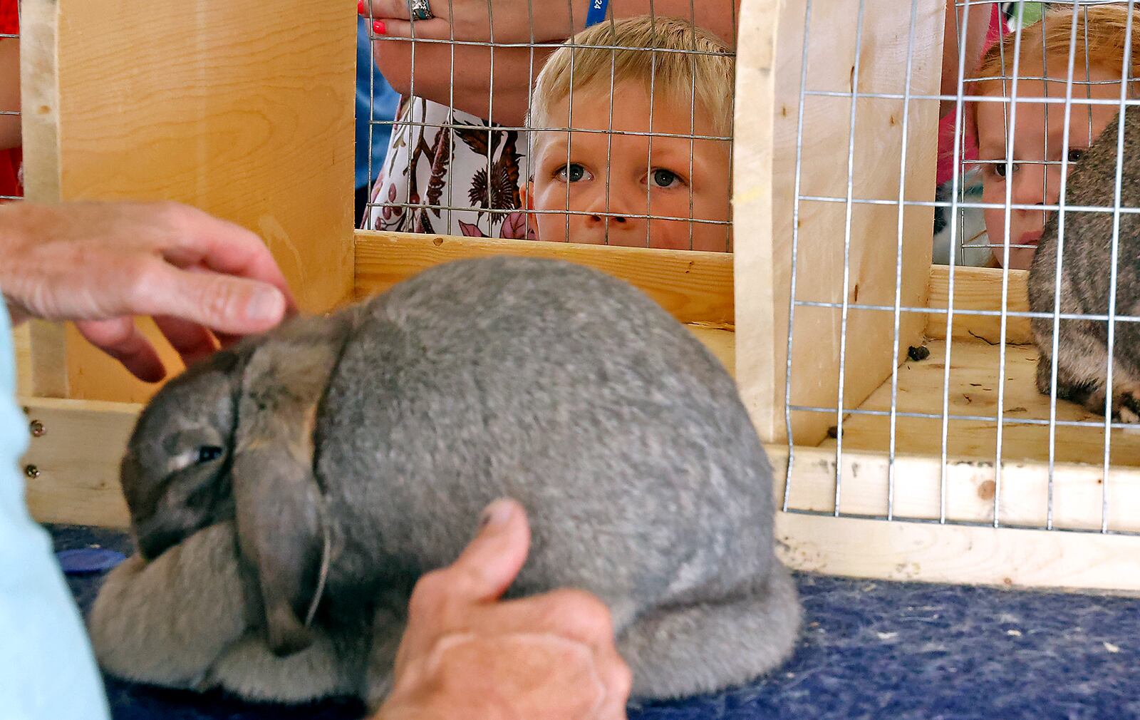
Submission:
POLYGON ((499 496, 532 527, 508 596, 597 594, 635 696, 747 681, 799 629, 732 378, 641 291, 568 262, 450 262, 217 353, 142 412, 122 483, 149 564, 112 574, 91 628, 139 680, 378 703, 412 585, 499 496), (204 626, 213 610, 155 609, 235 594, 204 626), (179 642, 218 660, 150 666, 179 642), (299 663, 317 679, 279 687, 299 663))

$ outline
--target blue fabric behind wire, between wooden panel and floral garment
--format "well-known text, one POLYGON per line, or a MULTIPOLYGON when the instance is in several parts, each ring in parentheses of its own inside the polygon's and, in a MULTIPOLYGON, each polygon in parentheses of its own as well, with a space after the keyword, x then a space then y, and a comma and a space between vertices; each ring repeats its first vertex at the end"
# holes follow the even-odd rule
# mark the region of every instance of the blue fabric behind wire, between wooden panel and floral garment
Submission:
POLYGON ((396 118, 400 95, 388 84, 372 58, 368 19, 357 19, 357 160, 356 186, 370 184, 384 167, 388 140, 392 135, 390 121, 396 118), (369 118, 372 122, 369 123, 369 118), (372 178, 368 177, 368 126, 372 124, 372 178))

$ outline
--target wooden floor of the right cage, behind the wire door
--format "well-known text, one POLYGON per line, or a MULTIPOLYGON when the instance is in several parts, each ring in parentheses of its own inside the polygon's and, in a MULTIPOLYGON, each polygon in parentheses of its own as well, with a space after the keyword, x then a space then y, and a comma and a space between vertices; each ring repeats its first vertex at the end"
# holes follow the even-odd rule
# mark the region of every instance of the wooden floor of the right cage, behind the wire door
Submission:
MULTIPOLYGON (((945 341, 930 341, 930 357, 909 361, 898 374, 898 411, 942 413, 945 369, 945 341)), ((1005 395, 1002 416, 1002 459, 1048 462, 1049 427, 1017 424, 1017 420, 1049 420, 1049 396, 1037 393, 1034 382, 1036 349, 1008 346, 1005 350, 1005 395)), ((951 420, 946 451, 952 458, 996 460, 999 353, 995 346, 979 341, 958 341, 951 347, 950 414, 974 415, 987 420, 951 420)), ((862 410, 890 410, 889 382, 877 389, 862 410)), ((832 423, 834 423, 834 415, 832 423)), ((1104 418, 1066 401, 1057 402, 1059 421, 1104 422, 1104 418)), ((1058 426, 1056 462, 1091 463, 1100 467, 1105 452, 1101 427, 1058 426)), ((844 448, 886 452, 889 418, 852 414, 844 421, 844 448)), ((1140 428, 1115 429, 1109 438, 1114 467, 1140 467, 1140 428)), ((832 446, 825 440, 822 446, 832 446)), ((902 453, 937 458, 942 453, 942 420, 899 419, 896 450, 902 453)))

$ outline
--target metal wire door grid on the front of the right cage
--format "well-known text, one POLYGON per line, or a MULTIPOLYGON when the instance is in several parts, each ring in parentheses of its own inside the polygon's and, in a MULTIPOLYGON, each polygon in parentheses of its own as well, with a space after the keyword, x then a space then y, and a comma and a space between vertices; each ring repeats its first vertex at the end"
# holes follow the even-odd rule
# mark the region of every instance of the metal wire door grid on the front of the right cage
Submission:
MULTIPOLYGON (((1124 114, 1123 110, 1126 105, 1140 104, 1140 99, 1130 98, 1127 96, 1127 90, 1131 83, 1135 80, 1130 72, 1130 49, 1132 39, 1132 22, 1131 18, 1134 17, 1133 13, 1135 10, 1135 0, 1127 0, 1126 3, 1121 0, 1067 0, 1066 2, 1052 2, 1052 6, 1068 6, 1072 8, 1072 37, 1069 39, 1069 54, 1068 54, 1068 66, 1065 84, 1065 96, 1064 97, 1048 97, 1048 82, 1042 84, 1047 88, 1045 97, 1019 97, 1018 96, 1018 82, 1026 80, 1047 80, 1050 79, 1048 73, 1048 67, 1043 68, 1043 75, 1033 76, 1026 75, 1020 76, 1018 72, 1018 65, 1021 57, 1020 42, 1021 42, 1021 27, 1020 25, 1015 29, 1015 49, 1013 49, 1013 68, 1012 74, 1009 76, 1001 78, 1004 91, 1003 97, 978 97, 971 96, 970 100, 987 102, 987 103, 1002 103, 1004 105, 1004 120, 1005 120, 1005 160, 1004 161, 990 161, 995 163, 1004 163, 1007 168, 1007 177, 1012 170, 1013 162, 1013 134, 1010 128, 1016 127, 1016 113, 1019 103, 1033 102, 1043 103, 1045 107, 1045 121, 1048 122, 1049 107, 1052 105, 1062 105, 1065 112, 1064 119, 1064 132, 1062 132, 1062 146, 1068 147, 1069 140, 1069 124, 1070 118, 1068 108, 1073 105, 1114 105, 1121 107, 1121 113, 1118 115, 1118 145, 1117 145, 1117 167, 1116 167, 1116 186, 1115 196, 1112 208, 1104 207, 1083 207, 1067 204, 1065 200, 1065 187, 1066 187, 1066 176, 1068 171, 1068 153, 1060 153, 1059 161, 1029 161, 1037 162, 1040 164, 1054 164, 1060 165, 1060 195, 1057 203, 1043 203, 1043 204, 1019 204, 1012 202, 1012 184, 1005 184, 1005 199, 1001 204, 993 203, 978 203, 978 202, 966 202, 961 199, 961 176, 964 175, 964 170, 969 164, 977 164, 977 162, 986 161, 970 161, 967 162, 962 156, 962 131, 963 131, 963 112, 964 112, 964 97, 966 87, 971 82, 978 82, 977 80, 964 78, 966 67, 966 42, 964 42, 964 29, 968 26, 969 14, 971 7, 975 8, 975 13, 978 11, 977 6, 982 6, 982 9, 986 13, 993 3, 988 0, 959 0, 955 2, 956 10, 955 21, 958 22, 956 37, 959 39, 958 47, 958 89, 953 96, 943 95, 919 95, 912 94, 910 91, 912 71, 913 71, 913 49, 914 49, 914 32, 915 32, 915 17, 919 6, 919 0, 912 0, 911 2, 911 15, 910 15, 910 35, 907 45, 906 55, 906 71, 905 71, 905 86, 904 92, 902 94, 887 94, 887 92, 860 92, 857 89, 857 82, 852 83, 852 90, 849 92, 841 91, 828 91, 828 90, 813 90, 807 87, 807 68, 808 68, 808 49, 811 47, 811 22, 812 22, 812 6, 813 0, 806 0, 805 5, 805 16, 804 16, 804 47, 801 54, 801 68, 800 68, 800 91, 799 91, 799 113, 797 118, 797 132, 796 132, 796 175, 795 175, 795 192, 793 192, 793 208, 792 208, 792 230, 791 230, 791 278, 790 278, 790 297, 791 302, 789 304, 788 313, 788 345, 787 345, 787 367, 785 367, 785 383, 784 383, 784 407, 785 407, 785 429, 788 434, 788 452, 789 452, 789 464, 788 475, 784 485, 784 496, 782 503, 782 510, 785 512, 798 512, 805 515, 830 515, 834 517, 873 517, 876 519, 893 520, 893 521, 909 521, 909 523, 939 523, 939 524, 954 524, 954 525, 991 525, 993 527, 1033 527, 1036 529, 1049 529, 1058 532, 1090 532, 1082 528, 1069 528, 1069 527, 1058 527, 1053 523, 1053 482, 1054 482, 1054 470, 1056 470, 1056 443, 1057 443, 1057 428, 1058 427, 1090 427, 1090 428, 1102 428, 1104 429, 1104 455, 1101 463, 1102 482, 1101 487, 1101 521, 1099 532, 1102 534, 1137 534, 1133 532, 1115 531, 1108 526, 1108 511, 1109 511, 1109 474, 1112 470, 1110 463, 1110 447, 1112 447, 1112 429, 1121 428, 1134 428, 1134 424, 1113 422, 1109 403, 1112 402, 1112 395, 1106 399, 1105 407, 1105 419, 1104 421, 1065 421, 1057 418, 1057 365, 1052 364, 1052 391, 1049 396, 1049 419, 1031 419, 1031 418, 1005 418, 1003 413, 1003 403, 1005 395, 1005 377, 1007 377, 1007 323, 1011 317, 1048 317, 1053 321, 1053 335, 1052 335, 1052 357, 1057 357, 1058 353, 1058 339, 1059 339, 1059 322, 1061 319, 1091 319, 1091 321, 1104 321, 1108 326, 1108 357, 1107 363, 1107 387, 1112 387, 1112 372, 1113 372, 1113 348, 1115 341, 1115 323, 1116 322, 1137 322, 1140 317, 1125 316, 1116 314, 1116 253, 1117 243, 1112 243, 1112 268, 1110 268, 1110 291, 1109 291, 1109 308, 1106 315, 1073 315, 1065 313, 1031 313, 1031 312, 1010 312, 1008 310, 1008 299, 1009 299, 1009 272, 1002 272, 1002 285, 1001 285, 1001 310, 975 310, 975 309, 963 309, 954 307, 954 281, 955 281, 955 253, 950 253, 950 266, 948 266, 948 293, 947 293, 947 307, 946 308, 927 308, 927 307, 907 307, 902 305, 901 289, 902 289, 902 266, 903 266, 903 211, 906 207, 935 207, 935 208, 948 208, 951 217, 967 208, 1001 208, 1004 212, 1004 236, 1009 237, 1010 229, 1010 216, 1011 210, 1045 210, 1058 212, 1058 225, 1059 225, 1059 240, 1058 240, 1058 268, 1054 281, 1054 297, 1053 307, 1060 306, 1060 277, 1061 277, 1061 257, 1064 250, 1064 228, 1065 228, 1065 217, 1067 212, 1112 212, 1113 213, 1113 226, 1114 226, 1114 238, 1116 237, 1119 229, 1119 218, 1122 215, 1131 212, 1140 212, 1140 208, 1124 208, 1121 207, 1121 178, 1122 178, 1122 154, 1124 144, 1124 114), (1126 37, 1125 37, 1125 50, 1124 60, 1122 67, 1122 76, 1125 78, 1126 82, 1119 81, 1093 81, 1090 74, 1090 60, 1088 56, 1088 24, 1081 23, 1078 25, 1077 17, 1080 13, 1085 11, 1090 6, 1097 5, 1126 5, 1130 13, 1130 23, 1127 25, 1126 37), (1077 27, 1083 26, 1085 31, 1085 54, 1084 54, 1084 80, 1074 79, 1076 48, 1077 48, 1077 27), (1088 94, 1091 91, 1091 86, 1098 82, 1105 83, 1116 83, 1121 87, 1121 96, 1118 99, 1097 99, 1092 98, 1088 94), (1008 84, 1007 84, 1008 83, 1008 84), (1074 98, 1073 91, 1074 87, 1085 88, 1086 97, 1074 98), (850 98, 850 115, 849 115, 849 143, 847 148, 847 192, 846 196, 828 196, 828 195, 808 195, 801 192, 801 168, 803 168, 803 147, 804 147, 804 107, 805 98, 812 96, 832 96, 832 97, 846 97, 850 98), (906 171, 906 140, 909 138, 909 124, 910 124, 910 104, 912 100, 953 100, 954 102, 954 148, 953 148, 953 176, 952 176, 952 193, 950 201, 912 201, 904 197, 904 185, 899 183, 898 196, 895 199, 870 199, 870 197, 856 197, 854 195, 854 180, 856 177, 857 169, 854 163, 854 143, 855 143, 855 122, 856 122, 856 99, 860 98, 881 98, 881 99, 902 99, 904 103, 904 113, 902 121, 902 154, 899 164, 901 177, 905 175, 906 171), (841 302, 824 302, 814 301, 799 298, 797 294, 797 258, 799 254, 799 227, 800 227, 800 209, 801 203, 805 202, 820 202, 820 203, 844 203, 846 216, 845 216, 845 234, 844 234, 844 277, 842 277, 842 301, 841 302), (895 273, 895 301, 893 305, 872 305, 872 304, 857 304, 848 300, 848 285, 849 285, 849 270, 850 270, 850 243, 852 243, 852 210, 857 204, 878 204, 878 205, 897 205, 898 208, 898 236, 897 236, 897 249, 896 249, 896 273, 895 273), (796 309, 798 307, 821 307, 838 309, 840 312, 840 347, 839 347, 839 375, 838 375, 838 393, 834 406, 815 406, 815 405, 797 405, 793 403, 792 398, 792 377, 793 377, 793 363, 792 363, 792 342, 793 342, 793 330, 796 322, 796 309), (873 312, 889 312, 894 315, 894 357, 898 357, 899 350, 899 318, 903 313, 921 313, 926 315, 930 314, 945 314, 945 362, 943 370, 943 382, 942 382, 942 411, 940 412, 907 412, 898 410, 898 367, 893 364, 893 370, 890 374, 890 408, 888 411, 882 410, 869 410, 861 407, 848 407, 844 403, 844 380, 846 377, 846 337, 847 337, 847 323, 849 310, 873 310, 873 312), (1000 318, 1000 341, 997 343, 999 353, 999 366, 997 366, 997 390, 996 390, 996 402, 997 407, 994 415, 978 415, 978 414, 955 414, 950 412, 950 388, 951 388, 951 359, 952 359, 952 348, 953 348, 953 321, 955 315, 979 315, 979 316, 996 316, 1000 318), (796 461, 796 445, 795 437, 792 432, 792 414, 796 412, 811 412, 811 413, 831 413, 836 415, 836 427, 834 427, 834 439, 836 439, 836 477, 834 477, 834 504, 833 509, 830 511, 812 510, 804 508, 796 508, 791 504, 791 493, 793 486, 793 466, 796 461), (852 415, 876 415, 886 416, 889 419, 889 445, 887 448, 888 458, 888 479, 887 479, 887 509, 883 516, 866 516, 861 513, 850 513, 840 511, 840 499, 842 491, 842 468, 844 468, 844 420, 852 415), (919 517, 902 517, 896 516, 894 510, 894 497, 895 497, 895 470, 896 470, 896 438, 897 438, 897 421, 901 418, 906 419, 928 419, 937 420, 940 422, 940 472, 938 477, 939 484, 939 517, 937 520, 931 520, 929 518, 919 517), (950 462, 947 447, 948 447, 948 434, 951 421, 980 421, 980 422, 996 422, 995 428, 995 454, 994 454, 994 493, 993 493, 993 519, 988 523, 977 523, 977 521, 963 521, 963 520, 951 520, 947 519, 946 512, 946 499, 947 499, 947 466, 950 462), (1001 476, 1002 476, 1002 464, 1003 464, 1003 453, 1002 453, 1002 440, 1003 440, 1003 429, 1004 426, 1013 424, 1027 424, 1027 426, 1045 426, 1049 431, 1049 447, 1048 447, 1048 499, 1047 499, 1047 520, 1043 526, 1026 526, 1018 524, 1009 524, 1002 521, 1002 507, 1001 507, 1001 476)), ((865 0, 860 0, 858 15, 855 24, 855 59, 852 76, 857 79, 860 76, 860 55, 862 50, 862 33, 864 16, 866 11, 865 0)), ((1086 15, 1085 15, 1086 18, 1086 15)), ((1043 19, 1042 22, 1047 22, 1043 19)), ((1042 56, 1045 54, 1042 52, 1042 56)), ((1002 56, 1002 66, 1007 67, 1004 63, 1004 57, 1002 56)), ((1050 79, 1052 80, 1052 79, 1050 79)), ((1090 115, 1089 120, 1089 137, 1092 137, 1092 120, 1090 115)), ((1047 134, 1048 136, 1048 134, 1047 134)), ((1045 146, 1045 157, 1048 155, 1048 138, 1045 146)), ((1023 164, 1026 161, 1018 160, 1017 164, 1023 164)), ((1045 187, 1042 188, 1042 196, 1045 196, 1045 187)), ((951 248, 956 246, 955 235, 958 232, 958 224, 953 220, 950 223, 951 232, 951 248)), ((994 244, 994 246, 1001 246, 1003 250, 1003 267, 1009 266, 1009 250, 1011 248, 1029 248, 1033 245, 1020 245, 1003 243, 1001 245, 994 244)), ((915 478, 919 480, 918 478, 915 478)))

